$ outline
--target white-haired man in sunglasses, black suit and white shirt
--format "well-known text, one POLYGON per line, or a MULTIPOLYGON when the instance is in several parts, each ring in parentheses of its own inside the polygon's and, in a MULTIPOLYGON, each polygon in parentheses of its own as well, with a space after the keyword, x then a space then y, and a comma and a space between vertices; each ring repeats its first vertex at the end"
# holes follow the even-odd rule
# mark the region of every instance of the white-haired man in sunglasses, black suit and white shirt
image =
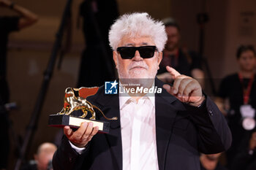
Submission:
POLYGON ((173 85, 155 78, 167 40, 162 22, 147 13, 123 15, 111 26, 109 39, 119 90, 128 90, 108 95, 103 86, 87 99, 118 120, 110 120, 109 134, 97 134, 93 123, 81 123, 77 131, 65 126, 53 169, 199 170, 199 152, 230 147, 225 118, 197 80, 169 66, 173 85), (136 85, 160 89, 132 93, 136 85))

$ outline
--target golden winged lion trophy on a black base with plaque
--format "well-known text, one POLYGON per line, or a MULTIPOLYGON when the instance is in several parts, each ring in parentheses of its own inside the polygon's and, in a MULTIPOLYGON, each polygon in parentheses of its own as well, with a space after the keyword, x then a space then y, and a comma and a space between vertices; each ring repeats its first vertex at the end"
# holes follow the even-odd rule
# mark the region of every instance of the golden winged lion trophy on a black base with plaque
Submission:
POLYGON ((110 123, 96 120, 96 110, 98 110, 106 120, 117 120, 117 117, 108 118, 99 109, 91 104, 86 98, 97 93, 99 88, 67 88, 65 90, 64 107, 56 115, 49 116, 48 124, 53 127, 64 127, 69 125, 72 128, 79 128, 83 122, 92 122, 94 127, 99 127, 99 132, 108 134, 110 123), (73 113, 80 111, 81 115, 73 113))

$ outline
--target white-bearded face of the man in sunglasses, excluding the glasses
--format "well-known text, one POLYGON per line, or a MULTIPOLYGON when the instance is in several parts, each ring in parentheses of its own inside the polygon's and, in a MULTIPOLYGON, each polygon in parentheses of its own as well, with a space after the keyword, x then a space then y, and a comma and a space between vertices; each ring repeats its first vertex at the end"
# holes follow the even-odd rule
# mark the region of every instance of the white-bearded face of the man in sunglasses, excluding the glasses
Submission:
MULTIPOLYGON (((124 36, 118 47, 140 47, 146 45, 155 45, 153 39, 149 36, 138 38, 124 36)), ((154 78, 162 60, 162 53, 156 51, 154 57, 144 59, 140 57, 140 53, 137 50, 132 59, 122 59, 118 52, 113 51, 113 60, 116 63, 118 76, 121 79, 154 78)))

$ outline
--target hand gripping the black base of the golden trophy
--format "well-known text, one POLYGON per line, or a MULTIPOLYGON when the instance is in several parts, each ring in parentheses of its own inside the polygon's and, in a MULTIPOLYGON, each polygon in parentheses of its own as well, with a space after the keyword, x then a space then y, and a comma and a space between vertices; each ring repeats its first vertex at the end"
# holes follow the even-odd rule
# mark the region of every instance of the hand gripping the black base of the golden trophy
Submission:
POLYGON ((77 131, 72 131, 69 126, 64 127, 64 134, 70 142, 76 147, 86 147, 86 144, 91 141, 91 138, 97 134, 99 128, 93 127, 93 123, 81 123, 77 131))

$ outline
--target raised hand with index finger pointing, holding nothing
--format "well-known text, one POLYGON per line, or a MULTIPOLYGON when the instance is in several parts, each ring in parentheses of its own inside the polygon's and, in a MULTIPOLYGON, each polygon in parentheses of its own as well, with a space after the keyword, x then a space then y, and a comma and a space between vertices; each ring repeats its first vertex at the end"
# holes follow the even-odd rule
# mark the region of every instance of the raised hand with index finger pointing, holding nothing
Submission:
POLYGON ((173 77, 173 87, 170 85, 163 85, 163 88, 168 93, 176 96, 178 100, 188 103, 192 106, 199 106, 204 101, 205 97, 202 93, 202 88, 197 80, 192 77, 180 74, 170 66, 166 66, 167 71, 173 77))

